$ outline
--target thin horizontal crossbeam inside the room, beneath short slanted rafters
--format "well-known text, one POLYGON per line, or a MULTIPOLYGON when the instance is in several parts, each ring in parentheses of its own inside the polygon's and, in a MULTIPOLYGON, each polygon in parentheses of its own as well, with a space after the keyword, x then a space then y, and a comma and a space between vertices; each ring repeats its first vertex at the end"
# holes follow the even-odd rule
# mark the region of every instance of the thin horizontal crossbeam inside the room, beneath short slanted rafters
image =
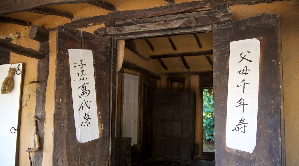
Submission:
POLYGON ((197 52, 170 53, 170 54, 161 54, 161 55, 149 55, 149 59, 172 58, 172 57, 190 57, 190 56, 211 55, 211 54, 213 54, 213 50, 197 51, 197 52))

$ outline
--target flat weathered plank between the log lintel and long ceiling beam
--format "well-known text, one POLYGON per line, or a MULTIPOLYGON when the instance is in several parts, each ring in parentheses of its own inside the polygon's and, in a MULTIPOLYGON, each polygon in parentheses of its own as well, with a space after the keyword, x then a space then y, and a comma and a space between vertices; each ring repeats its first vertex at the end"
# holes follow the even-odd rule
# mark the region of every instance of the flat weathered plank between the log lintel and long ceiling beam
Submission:
POLYGON ((145 24, 145 23, 157 23, 161 21, 174 21, 179 20, 182 18, 193 18, 199 15, 209 15, 212 14, 211 10, 208 11, 201 11, 201 12, 191 12, 191 13, 184 13, 178 15, 164 15, 160 17, 152 17, 152 18, 139 18, 133 20, 125 20, 125 21, 118 21, 115 22, 115 26, 130 26, 130 25, 137 25, 137 24, 145 24))

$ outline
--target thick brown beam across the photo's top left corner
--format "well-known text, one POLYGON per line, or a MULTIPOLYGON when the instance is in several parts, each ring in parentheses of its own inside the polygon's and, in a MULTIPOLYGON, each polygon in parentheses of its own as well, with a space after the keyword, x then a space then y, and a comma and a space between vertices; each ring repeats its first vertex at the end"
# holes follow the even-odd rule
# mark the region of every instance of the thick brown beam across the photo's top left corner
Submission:
POLYGON ((30 9, 59 4, 80 4, 98 0, 3 0, 0 6, 0 15, 16 12, 25 12, 30 9))

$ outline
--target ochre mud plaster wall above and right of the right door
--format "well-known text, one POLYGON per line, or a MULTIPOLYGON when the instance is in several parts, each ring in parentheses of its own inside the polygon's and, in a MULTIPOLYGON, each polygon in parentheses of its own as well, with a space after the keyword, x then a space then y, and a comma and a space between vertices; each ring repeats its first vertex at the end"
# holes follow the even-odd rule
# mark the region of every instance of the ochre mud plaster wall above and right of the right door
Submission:
POLYGON ((235 20, 260 13, 278 13, 281 18, 283 59, 283 96, 285 119, 286 165, 299 163, 299 1, 270 4, 236 5, 229 8, 235 20))

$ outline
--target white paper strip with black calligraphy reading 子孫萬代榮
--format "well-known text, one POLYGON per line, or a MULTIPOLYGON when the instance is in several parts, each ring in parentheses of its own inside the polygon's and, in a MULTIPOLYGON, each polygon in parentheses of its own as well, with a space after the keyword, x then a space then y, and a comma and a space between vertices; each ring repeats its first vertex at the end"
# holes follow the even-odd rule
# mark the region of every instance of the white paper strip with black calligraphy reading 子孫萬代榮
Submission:
POLYGON ((77 140, 100 137, 91 50, 68 49, 77 140))

